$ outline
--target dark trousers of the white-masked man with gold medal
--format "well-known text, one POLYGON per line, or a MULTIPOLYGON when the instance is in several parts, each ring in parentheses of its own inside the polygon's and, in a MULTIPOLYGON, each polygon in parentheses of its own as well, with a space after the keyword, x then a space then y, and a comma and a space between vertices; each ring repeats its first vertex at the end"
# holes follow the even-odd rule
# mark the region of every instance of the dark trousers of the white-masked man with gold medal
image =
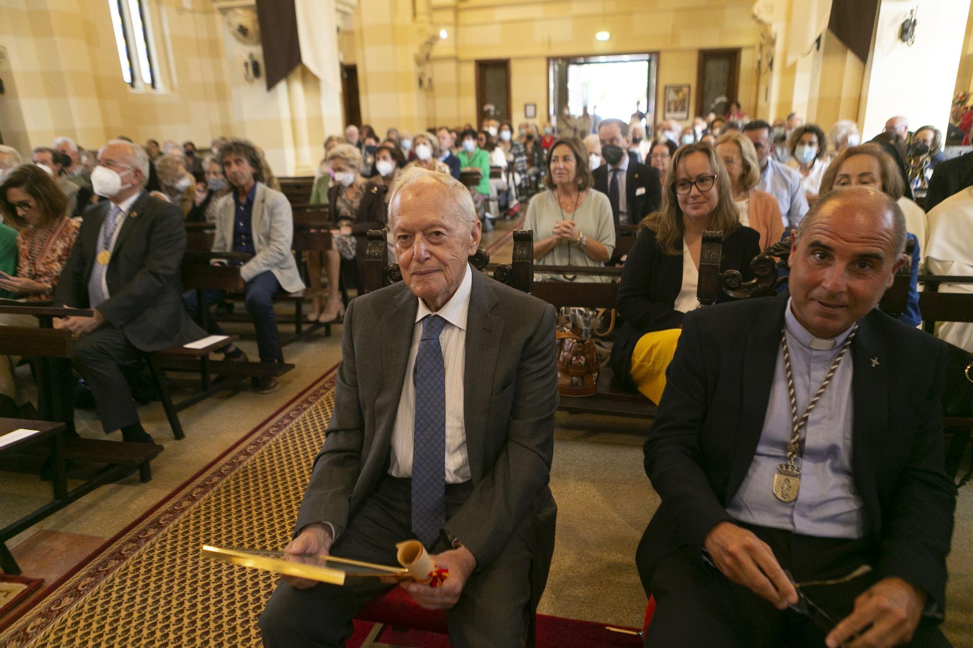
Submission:
MULTIPOLYGON (((75 342, 71 363, 91 389, 94 407, 105 434, 138 422, 135 400, 119 366, 134 356, 135 347, 131 342, 121 331, 107 323, 75 342)), ((75 379, 70 373, 62 378, 62 392, 72 404, 70 412, 73 419, 75 379)))

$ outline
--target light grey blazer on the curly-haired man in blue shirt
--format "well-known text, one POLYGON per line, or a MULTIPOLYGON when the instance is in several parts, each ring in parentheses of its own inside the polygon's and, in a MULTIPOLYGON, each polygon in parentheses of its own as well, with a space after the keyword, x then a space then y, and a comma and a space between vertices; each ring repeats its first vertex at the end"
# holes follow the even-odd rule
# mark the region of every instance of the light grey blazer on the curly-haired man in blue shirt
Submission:
MULTIPOLYGON (((234 192, 220 198, 216 212, 216 234, 211 248, 213 252, 230 252, 234 249, 235 211, 234 192)), ((287 292, 304 290, 304 281, 291 254, 294 215, 287 197, 258 182, 253 195, 251 218, 253 247, 257 254, 243 264, 240 276, 244 281, 249 281, 261 272, 270 270, 277 277, 280 287, 287 292)))

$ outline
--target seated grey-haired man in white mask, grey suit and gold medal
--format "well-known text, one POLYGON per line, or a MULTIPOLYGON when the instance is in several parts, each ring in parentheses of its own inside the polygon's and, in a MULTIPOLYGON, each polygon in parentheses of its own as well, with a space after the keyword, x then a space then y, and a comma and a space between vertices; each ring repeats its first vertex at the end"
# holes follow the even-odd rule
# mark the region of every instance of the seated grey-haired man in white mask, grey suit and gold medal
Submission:
POLYGON ((54 290, 55 305, 94 309, 92 317, 65 317, 54 327, 78 338, 72 360, 91 388, 105 433, 121 429, 125 441, 136 443, 152 443, 152 437, 139 422, 119 363, 134 349, 157 351, 205 336, 181 297, 182 213, 145 193, 149 164, 131 142, 113 140, 102 148, 91 183, 108 200, 85 212, 54 290))

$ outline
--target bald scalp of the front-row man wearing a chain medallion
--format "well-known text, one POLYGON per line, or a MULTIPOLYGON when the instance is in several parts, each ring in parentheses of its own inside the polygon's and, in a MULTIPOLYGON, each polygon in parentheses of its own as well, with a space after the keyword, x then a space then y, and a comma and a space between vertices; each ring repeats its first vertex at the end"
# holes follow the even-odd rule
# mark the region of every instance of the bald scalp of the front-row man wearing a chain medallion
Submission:
POLYGON ((817 200, 798 225, 798 238, 818 222, 842 223, 855 220, 867 224, 890 243, 889 258, 898 258, 906 249, 906 217, 892 198, 871 187, 837 188, 817 200))

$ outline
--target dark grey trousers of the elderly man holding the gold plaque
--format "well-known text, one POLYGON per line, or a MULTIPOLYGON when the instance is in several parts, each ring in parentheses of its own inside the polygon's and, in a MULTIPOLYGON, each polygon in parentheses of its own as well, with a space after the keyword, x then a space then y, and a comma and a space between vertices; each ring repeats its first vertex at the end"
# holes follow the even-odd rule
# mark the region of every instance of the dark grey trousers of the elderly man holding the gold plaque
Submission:
MULTIPOLYGON (((450 517, 466 501, 469 483, 446 486, 450 517)), ((408 480, 385 477, 378 489, 352 516, 331 553, 379 564, 397 565, 395 543, 414 538, 408 480)), ((427 548, 430 554, 449 549, 445 540, 427 548)), ((392 587, 378 579, 350 578, 343 587, 321 584, 295 590, 281 582, 260 618, 264 645, 269 648, 340 646, 351 635, 351 620, 369 600, 392 587)), ((500 557, 474 572, 459 601, 446 610, 450 645, 521 646, 530 613, 530 550, 516 533, 500 557)))

